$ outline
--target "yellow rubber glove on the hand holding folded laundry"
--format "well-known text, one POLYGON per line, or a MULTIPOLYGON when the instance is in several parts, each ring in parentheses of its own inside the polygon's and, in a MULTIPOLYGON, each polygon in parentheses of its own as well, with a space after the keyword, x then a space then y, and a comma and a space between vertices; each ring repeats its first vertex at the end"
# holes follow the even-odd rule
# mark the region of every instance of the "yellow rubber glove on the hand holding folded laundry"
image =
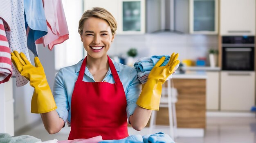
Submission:
POLYGON ((137 105, 149 110, 159 110, 160 98, 162 94, 162 85, 174 71, 176 65, 180 63, 177 60, 179 54, 173 53, 170 61, 165 66, 160 67, 164 63, 165 56, 155 64, 148 75, 147 82, 142 85, 142 91, 137 100, 137 105))

